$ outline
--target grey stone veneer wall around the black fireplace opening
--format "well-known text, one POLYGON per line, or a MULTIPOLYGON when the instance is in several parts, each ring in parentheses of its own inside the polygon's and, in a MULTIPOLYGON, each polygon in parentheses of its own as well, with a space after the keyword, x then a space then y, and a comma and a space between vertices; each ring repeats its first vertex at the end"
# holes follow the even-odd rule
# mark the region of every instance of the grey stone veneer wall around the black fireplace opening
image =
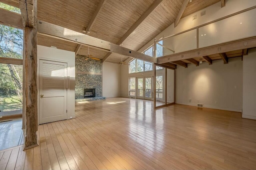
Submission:
POLYGON ((76 71, 101 73, 101 75, 76 73, 75 97, 84 98, 84 89, 95 89, 95 97, 102 97, 102 62, 85 60, 85 56, 76 55, 76 71))

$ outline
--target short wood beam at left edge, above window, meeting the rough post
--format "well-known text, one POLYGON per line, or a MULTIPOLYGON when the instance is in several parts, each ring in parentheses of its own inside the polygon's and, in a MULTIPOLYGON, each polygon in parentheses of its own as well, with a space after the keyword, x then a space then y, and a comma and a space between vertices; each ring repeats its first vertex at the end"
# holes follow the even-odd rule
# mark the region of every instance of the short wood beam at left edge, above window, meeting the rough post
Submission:
POLYGON ((0 8, 0 24, 23 29, 21 15, 16 12, 11 12, 0 8))

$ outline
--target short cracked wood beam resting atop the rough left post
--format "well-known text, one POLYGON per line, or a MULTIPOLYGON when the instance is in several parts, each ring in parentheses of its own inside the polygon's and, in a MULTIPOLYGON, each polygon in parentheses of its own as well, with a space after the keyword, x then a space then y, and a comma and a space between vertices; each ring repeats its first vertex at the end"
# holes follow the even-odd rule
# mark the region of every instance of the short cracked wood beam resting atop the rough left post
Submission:
POLYGON ((19 0, 23 26, 34 27, 34 0, 19 0))

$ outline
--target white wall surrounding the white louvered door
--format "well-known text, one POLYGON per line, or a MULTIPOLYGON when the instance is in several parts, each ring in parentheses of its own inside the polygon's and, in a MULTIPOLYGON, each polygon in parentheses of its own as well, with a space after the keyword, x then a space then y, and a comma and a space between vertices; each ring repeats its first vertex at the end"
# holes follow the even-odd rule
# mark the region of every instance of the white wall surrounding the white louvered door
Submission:
MULTIPOLYGON (((68 110, 67 119, 70 119, 70 117, 75 118, 76 117, 75 115, 75 53, 72 51, 66 51, 62 49, 56 49, 56 48, 37 45, 37 55, 38 55, 38 61, 40 59, 46 59, 50 61, 62 61, 62 62, 64 61, 68 63, 67 76, 68 76, 69 83, 68 83, 68 93, 67 93, 67 110, 68 110)), ((38 73, 39 73, 39 70, 38 70, 38 73)))

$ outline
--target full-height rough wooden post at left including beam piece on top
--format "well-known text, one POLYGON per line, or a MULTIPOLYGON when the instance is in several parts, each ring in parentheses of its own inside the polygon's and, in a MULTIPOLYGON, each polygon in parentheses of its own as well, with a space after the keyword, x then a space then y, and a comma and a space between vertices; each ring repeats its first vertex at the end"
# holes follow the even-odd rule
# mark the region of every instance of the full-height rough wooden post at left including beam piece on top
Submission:
POLYGON ((24 32, 26 135, 24 150, 38 146, 37 110, 37 0, 19 0, 24 32))

